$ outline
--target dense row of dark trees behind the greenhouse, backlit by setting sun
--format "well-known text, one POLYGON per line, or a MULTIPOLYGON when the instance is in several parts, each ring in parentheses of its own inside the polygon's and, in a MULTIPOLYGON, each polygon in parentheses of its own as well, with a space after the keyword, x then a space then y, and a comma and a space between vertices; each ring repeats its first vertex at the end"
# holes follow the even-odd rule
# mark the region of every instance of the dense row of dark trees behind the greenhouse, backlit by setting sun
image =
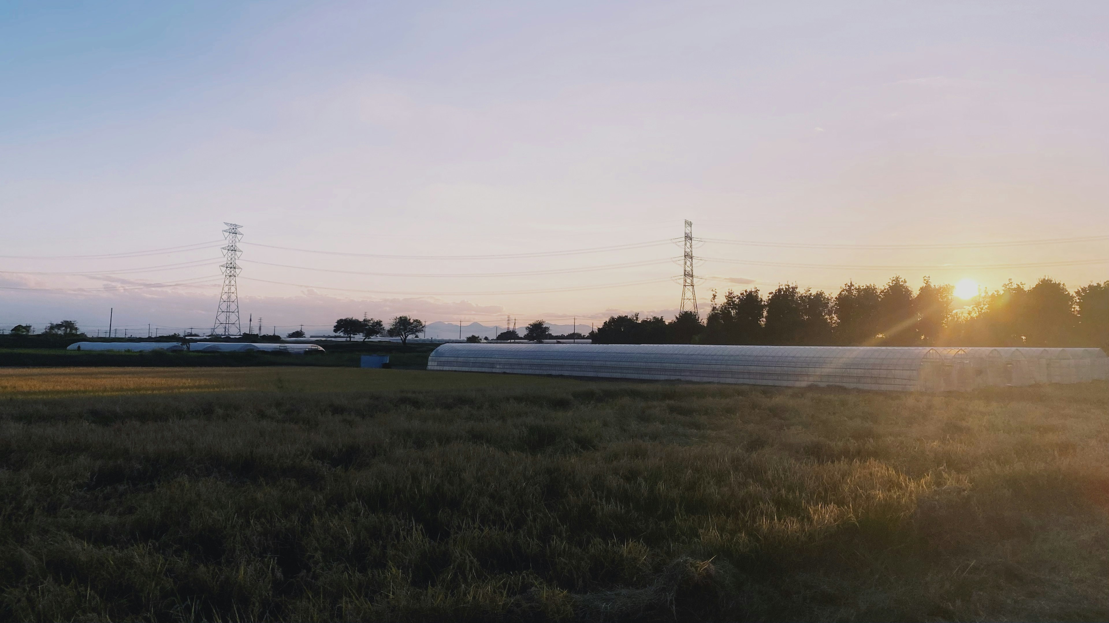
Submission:
POLYGON ((590 334, 596 344, 735 344, 798 346, 1100 346, 1109 347, 1109 282, 1074 293, 1054 279, 1031 287, 1008 282, 954 309, 954 287, 925 277, 913 290, 893 277, 884 286, 845 284, 834 296, 785 284, 713 290, 702 319, 692 312, 665 320, 612 316, 590 334))

